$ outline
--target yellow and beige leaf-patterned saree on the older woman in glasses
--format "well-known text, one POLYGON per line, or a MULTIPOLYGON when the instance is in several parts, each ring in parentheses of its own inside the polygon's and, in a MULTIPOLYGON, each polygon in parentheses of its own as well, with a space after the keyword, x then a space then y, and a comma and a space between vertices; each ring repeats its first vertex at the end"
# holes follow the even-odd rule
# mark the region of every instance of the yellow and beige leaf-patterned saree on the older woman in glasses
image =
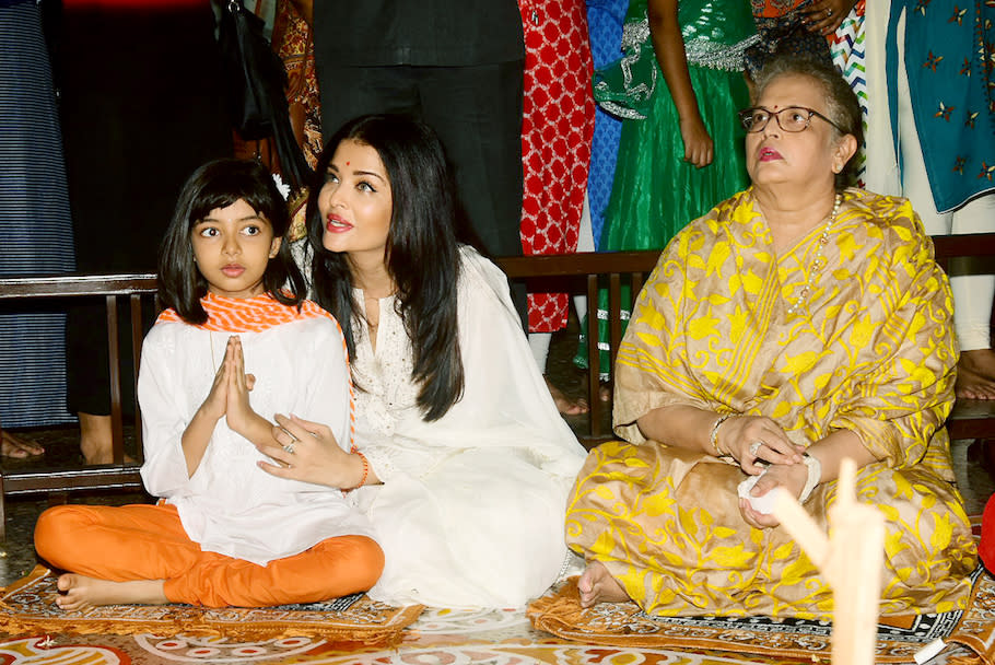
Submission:
MULTIPOLYGON (((879 459, 857 493, 887 520, 881 612, 967 604, 976 555, 943 428, 958 353, 946 276, 904 199, 846 190, 820 254, 821 234, 779 255, 747 190, 678 234, 640 294, 616 368, 628 442, 592 452, 566 533, 647 612, 832 611, 786 530, 744 522, 738 466, 644 439, 636 420, 675 404, 766 416, 801 445, 855 432, 879 459)), ((805 503, 823 529, 834 492, 805 503)))

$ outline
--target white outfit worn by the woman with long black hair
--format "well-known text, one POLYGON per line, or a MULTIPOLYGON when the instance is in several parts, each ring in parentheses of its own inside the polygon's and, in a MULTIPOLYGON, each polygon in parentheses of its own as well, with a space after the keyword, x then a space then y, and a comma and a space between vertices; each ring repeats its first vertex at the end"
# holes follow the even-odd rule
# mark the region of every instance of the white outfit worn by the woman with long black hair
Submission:
POLYGON ((566 495, 585 451, 532 360, 504 273, 464 248, 457 293, 466 389, 434 422, 415 406, 394 298, 379 301, 375 351, 366 327, 353 326, 356 445, 384 481, 354 492, 386 555, 370 595, 518 607, 569 560, 566 495))

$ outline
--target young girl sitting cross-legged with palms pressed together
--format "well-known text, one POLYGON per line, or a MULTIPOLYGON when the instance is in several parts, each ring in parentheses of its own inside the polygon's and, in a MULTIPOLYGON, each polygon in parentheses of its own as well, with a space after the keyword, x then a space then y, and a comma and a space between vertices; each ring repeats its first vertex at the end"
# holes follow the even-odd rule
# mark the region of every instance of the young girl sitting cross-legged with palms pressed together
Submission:
MULTIPOLYGON (((187 180, 160 258, 169 308, 145 338, 138 385, 142 479, 163 500, 42 514, 35 547, 70 571, 58 582, 63 609, 308 603, 379 576, 383 552, 339 488, 258 467, 255 446, 274 442, 278 412, 328 423, 347 450, 352 442, 342 334, 300 295, 303 277, 281 242, 288 223, 254 162, 210 162, 187 180)), ((282 451, 293 465, 294 442, 282 451)))

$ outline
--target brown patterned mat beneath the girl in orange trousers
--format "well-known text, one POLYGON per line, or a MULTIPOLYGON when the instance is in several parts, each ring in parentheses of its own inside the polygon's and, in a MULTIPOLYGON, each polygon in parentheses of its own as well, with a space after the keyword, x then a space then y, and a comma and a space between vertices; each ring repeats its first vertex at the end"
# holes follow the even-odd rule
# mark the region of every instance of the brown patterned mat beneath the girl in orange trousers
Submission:
POLYGON ((311 637, 365 644, 397 644, 424 609, 391 607, 364 594, 329 603, 269 608, 211 609, 190 605, 108 605, 63 611, 57 578, 43 565, 0 590, 0 632, 223 635, 239 640, 311 637))

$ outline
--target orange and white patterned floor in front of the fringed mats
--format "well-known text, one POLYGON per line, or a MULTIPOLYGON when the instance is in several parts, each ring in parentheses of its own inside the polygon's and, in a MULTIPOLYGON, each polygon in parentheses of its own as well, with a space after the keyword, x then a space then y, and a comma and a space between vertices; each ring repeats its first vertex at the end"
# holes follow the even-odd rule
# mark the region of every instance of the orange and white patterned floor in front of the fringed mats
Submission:
MULTIPOLYGON (((394 645, 183 633, 0 635, 2 665, 783 665, 792 661, 728 650, 569 641, 536 630, 524 608, 426 608, 394 645)), ((797 661, 812 663, 808 655, 797 661)), ((929 665, 979 662, 967 648, 951 644, 929 665)))

